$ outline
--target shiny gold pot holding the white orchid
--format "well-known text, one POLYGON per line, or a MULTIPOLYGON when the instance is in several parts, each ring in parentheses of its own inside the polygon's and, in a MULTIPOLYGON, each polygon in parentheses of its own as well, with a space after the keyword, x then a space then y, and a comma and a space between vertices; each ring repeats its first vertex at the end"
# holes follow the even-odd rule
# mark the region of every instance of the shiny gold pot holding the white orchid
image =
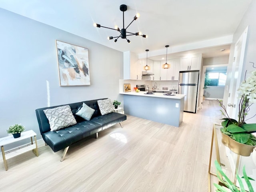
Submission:
POLYGON ((235 140, 230 138, 230 136, 225 135, 222 132, 221 132, 221 135, 222 135, 222 140, 221 140, 222 143, 225 146, 227 146, 228 148, 230 148, 230 150, 232 150, 234 153, 236 153, 238 155, 250 156, 250 154, 252 153, 253 149, 256 147, 255 145, 252 146, 252 145, 246 145, 246 144, 242 144, 242 143, 236 142, 235 140))

